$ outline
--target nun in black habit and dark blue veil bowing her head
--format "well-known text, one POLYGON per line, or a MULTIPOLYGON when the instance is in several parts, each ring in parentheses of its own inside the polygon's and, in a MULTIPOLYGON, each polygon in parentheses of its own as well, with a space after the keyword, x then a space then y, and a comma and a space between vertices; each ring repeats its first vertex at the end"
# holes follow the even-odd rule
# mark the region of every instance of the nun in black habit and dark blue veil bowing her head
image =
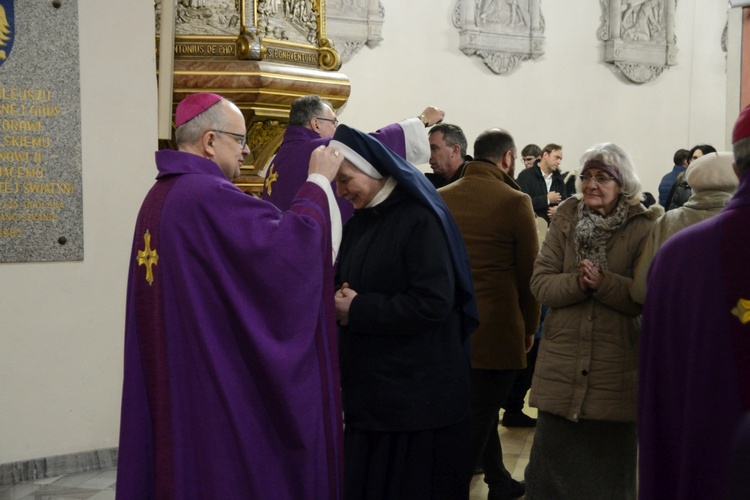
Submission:
POLYGON ((345 125, 336 314, 344 489, 354 499, 466 499, 470 359, 478 324, 458 228, 425 176, 345 125))

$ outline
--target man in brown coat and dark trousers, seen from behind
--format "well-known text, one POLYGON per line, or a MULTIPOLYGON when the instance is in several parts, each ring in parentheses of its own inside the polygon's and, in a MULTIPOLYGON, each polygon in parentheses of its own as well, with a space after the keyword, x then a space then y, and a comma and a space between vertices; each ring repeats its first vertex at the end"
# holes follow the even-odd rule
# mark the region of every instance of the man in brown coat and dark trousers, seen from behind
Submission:
POLYGON ((466 243, 479 307, 480 325, 471 337, 467 480, 481 464, 488 498, 499 500, 518 498, 525 489, 503 465, 497 426, 539 324, 539 302, 529 289, 539 242, 531 199, 512 177, 513 137, 501 129, 483 132, 474 142, 474 158, 463 177, 438 192, 466 243))

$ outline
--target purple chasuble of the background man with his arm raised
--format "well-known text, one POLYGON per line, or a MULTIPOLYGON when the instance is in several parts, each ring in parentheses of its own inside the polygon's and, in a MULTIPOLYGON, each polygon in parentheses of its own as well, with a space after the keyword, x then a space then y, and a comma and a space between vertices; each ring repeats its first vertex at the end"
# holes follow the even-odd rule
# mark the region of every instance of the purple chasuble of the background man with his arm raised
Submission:
MULTIPOLYGON (((406 138, 401 125, 394 123, 370 135, 392 149, 397 155, 406 158, 406 138)), ((284 140, 266 172, 263 183, 263 199, 270 201, 281 210, 289 210, 295 194, 307 179, 310 156, 318 146, 327 146, 331 137, 320 137, 306 127, 289 125, 284 131, 284 140)), ((333 186, 336 192, 336 186, 333 186)), ((341 222, 346 223, 354 213, 351 202, 337 197, 341 211, 341 222)))

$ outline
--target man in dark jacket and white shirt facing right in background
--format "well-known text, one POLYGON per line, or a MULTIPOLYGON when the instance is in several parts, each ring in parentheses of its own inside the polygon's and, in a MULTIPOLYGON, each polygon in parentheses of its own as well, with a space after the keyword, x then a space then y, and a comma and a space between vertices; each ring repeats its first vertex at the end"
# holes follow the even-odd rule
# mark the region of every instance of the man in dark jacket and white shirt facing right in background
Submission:
POLYGON ((542 150, 542 157, 518 174, 518 185, 521 191, 531 197, 534 212, 547 221, 555 215, 557 205, 560 204, 568 193, 565 189, 565 181, 560 174, 560 163, 562 162, 562 146, 547 144, 542 150))

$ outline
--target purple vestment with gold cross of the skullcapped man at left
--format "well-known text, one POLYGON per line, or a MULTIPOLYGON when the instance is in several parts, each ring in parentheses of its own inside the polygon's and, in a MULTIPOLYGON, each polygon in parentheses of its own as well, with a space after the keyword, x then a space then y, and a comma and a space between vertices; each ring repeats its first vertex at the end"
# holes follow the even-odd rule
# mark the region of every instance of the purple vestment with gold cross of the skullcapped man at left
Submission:
POLYGON ((340 498, 324 191, 303 183, 282 212, 210 160, 156 158, 130 260, 117 498, 340 498))

